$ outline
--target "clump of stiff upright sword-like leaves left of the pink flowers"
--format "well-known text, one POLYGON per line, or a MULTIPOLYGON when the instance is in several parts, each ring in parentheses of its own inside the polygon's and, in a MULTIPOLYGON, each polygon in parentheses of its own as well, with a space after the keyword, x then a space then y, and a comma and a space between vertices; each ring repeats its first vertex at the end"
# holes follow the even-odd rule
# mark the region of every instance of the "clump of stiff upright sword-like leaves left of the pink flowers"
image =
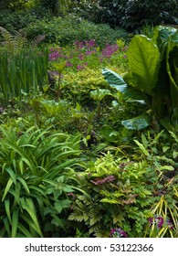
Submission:
POLYGON ((0 90, 5 104, 12 97, 21 97, 22 93, 43 91, 47 76, 47 49, 21 49, 15 55, 8 52, 0 54, 0 90))

